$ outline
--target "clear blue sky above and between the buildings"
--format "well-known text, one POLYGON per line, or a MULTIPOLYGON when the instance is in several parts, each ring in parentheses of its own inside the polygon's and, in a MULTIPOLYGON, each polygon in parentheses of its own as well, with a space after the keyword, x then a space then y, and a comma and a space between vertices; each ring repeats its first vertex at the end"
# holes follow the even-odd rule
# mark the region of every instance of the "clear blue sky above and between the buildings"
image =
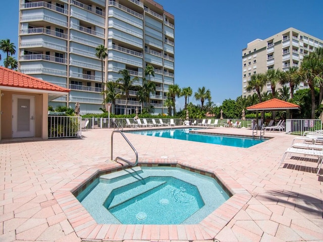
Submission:
MULTIPOLYGON (((0 10, 0 39, 18 47, 19 1, 0 10)), ((289 27, 323 39, 321 0, 155 0, 175 16, 175 83, 193 93, 205 86, 212 102, 242 93, 242 49, 289 27)), ((2 54, 2 61, 6 57, 2 54)), ((17 56, 17 54, 16 54, 17 56)), ((193 103, 199 103, 190 98, 193 103)), ((177 100, 177 110, 184 99, 177 100)))

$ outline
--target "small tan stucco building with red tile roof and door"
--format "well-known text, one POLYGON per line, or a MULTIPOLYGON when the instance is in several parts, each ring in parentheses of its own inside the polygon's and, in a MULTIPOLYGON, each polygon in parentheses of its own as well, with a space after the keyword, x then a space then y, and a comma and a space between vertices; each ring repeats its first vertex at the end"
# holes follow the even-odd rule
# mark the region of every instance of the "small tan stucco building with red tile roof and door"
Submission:
POLYGON ((48 101, 69 89, 0 67, 0 141, 48 138, 48 101))

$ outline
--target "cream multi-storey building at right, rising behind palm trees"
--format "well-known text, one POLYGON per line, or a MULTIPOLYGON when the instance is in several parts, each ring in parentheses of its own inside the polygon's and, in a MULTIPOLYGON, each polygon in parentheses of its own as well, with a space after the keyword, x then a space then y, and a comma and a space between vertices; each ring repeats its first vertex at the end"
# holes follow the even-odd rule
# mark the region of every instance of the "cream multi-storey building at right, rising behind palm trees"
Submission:
MULTIPOLYGON (((323 40, 294 28, 288 28, 264 40, 255 39, 242 50, 242 97, 255 91, 247 91, 251 75, 265 73, 269 69, 287 71, 290 67, 300 67, 303 56, 323 47, 323 40)), ((281 88, 277 85, 276 89, 281 88)), ((306 83, 295 87, 308 88, 306 83)), ((267 83, 262 92, 272 92, 271 84, 267 83)))

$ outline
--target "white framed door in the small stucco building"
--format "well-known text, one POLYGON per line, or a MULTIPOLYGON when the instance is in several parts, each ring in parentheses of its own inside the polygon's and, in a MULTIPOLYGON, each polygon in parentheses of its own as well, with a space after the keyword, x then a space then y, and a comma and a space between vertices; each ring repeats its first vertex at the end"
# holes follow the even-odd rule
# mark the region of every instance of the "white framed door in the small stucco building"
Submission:
POLYGON ((12 137, 35 136, 35 97, 13 95, 12 137))

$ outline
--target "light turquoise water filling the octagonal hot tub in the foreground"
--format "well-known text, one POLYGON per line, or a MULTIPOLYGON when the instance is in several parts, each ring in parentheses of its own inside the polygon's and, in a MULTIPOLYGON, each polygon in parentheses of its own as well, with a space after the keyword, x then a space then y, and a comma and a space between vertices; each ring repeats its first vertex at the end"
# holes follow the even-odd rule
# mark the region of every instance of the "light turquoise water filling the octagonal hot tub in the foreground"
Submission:
POLYGON ((215 179, 175 167, 100 176, 77 199, 97 223, 196 224, 229 199, 215 179))

